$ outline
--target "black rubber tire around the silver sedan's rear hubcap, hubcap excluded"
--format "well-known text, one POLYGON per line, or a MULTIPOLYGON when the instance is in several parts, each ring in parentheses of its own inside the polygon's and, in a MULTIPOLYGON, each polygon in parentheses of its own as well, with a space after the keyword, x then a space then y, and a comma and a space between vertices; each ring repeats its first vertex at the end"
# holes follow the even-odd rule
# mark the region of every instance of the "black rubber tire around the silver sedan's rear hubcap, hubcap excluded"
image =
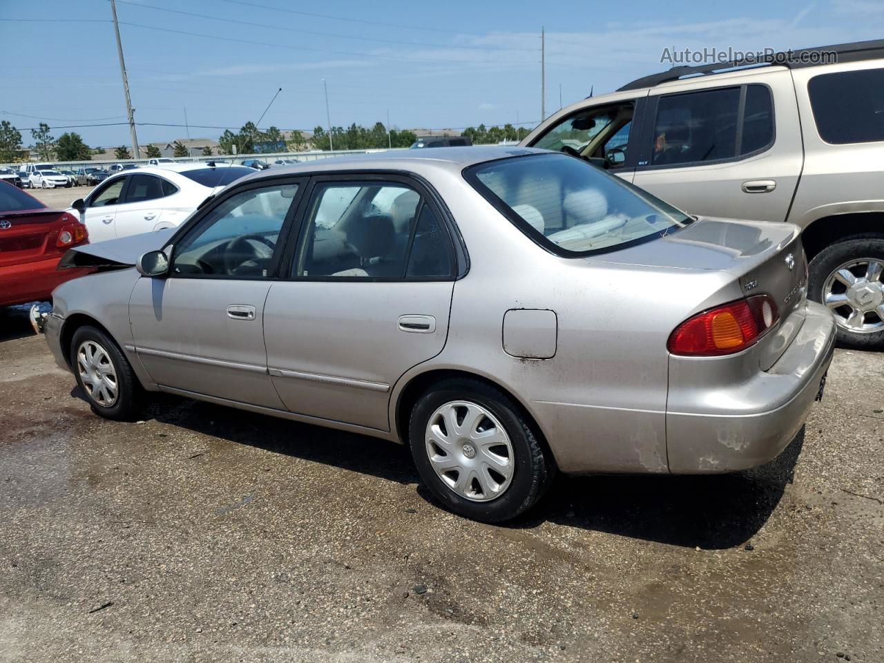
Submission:
POLYGON ((481 522, 511 520, 533 507, 555 474, 555 463, 532 430, 522 409, 506 393, 469 379, 448 379, 417 400, 408 422, 408 443, 423 484, 446 508, 481 522), (485 408, 507 432, 513 447, 513 476, 499 497, 487 501, 467 499, 454 492, 433 469, 424 432, 431 416, 451 401, 467 401, 485 408))

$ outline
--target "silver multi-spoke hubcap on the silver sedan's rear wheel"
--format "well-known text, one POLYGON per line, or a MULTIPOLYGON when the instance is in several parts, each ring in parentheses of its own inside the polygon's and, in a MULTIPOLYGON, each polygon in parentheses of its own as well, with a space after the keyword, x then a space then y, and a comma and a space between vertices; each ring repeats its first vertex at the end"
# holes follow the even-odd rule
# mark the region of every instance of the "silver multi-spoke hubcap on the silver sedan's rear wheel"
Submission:
POLYGON ((513 445, 499 421, 481 405, 453 400, 438 408, 426 430, 436 474, 463 498, 499 498, 513 479, 513 445))

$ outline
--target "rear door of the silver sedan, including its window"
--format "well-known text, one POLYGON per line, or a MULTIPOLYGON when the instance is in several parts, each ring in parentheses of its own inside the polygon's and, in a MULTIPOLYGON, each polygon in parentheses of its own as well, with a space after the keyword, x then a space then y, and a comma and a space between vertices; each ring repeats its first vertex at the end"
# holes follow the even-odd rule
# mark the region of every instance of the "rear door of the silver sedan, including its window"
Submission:
POLYGON ((264 315, 286 408, 389 430, 392 385, 441 352, 456 261, 429 191, 392 175, 315 178, 264 315))

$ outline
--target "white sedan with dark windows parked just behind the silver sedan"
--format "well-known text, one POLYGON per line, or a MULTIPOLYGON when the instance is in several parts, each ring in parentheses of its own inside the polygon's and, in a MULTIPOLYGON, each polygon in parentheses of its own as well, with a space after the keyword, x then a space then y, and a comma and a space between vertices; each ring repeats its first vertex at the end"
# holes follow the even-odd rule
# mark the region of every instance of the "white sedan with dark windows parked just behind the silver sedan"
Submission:
POLYGON ((72 202, 68 211, 80 215, 90 242, 173 228, 210 195, 254 172, 220 162, 121 171, 72 202))

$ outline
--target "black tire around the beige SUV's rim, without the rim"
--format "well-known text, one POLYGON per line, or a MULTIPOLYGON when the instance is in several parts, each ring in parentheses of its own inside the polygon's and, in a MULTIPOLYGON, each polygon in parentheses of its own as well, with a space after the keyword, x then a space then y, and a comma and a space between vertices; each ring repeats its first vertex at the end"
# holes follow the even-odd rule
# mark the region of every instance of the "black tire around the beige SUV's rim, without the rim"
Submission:
MULTIPOLYGON (((835 242, 813 257, 808 266, 807 294, 813 301, 823 301, 823 289, 829 276, 845 263, 853 259, 876 258, 884 262, 884 238, 880 235, 850 237, 835 242)), ((884 280, 884 277, 882 277, 884 280)), ((835 320, 843 319, 835 310, 835 320)), ((869 324, 869 317, 865 323, 869 324)), ((884 349, 884 330, 851 331, 838 324, 838 345, 859 350, 884 349)))

